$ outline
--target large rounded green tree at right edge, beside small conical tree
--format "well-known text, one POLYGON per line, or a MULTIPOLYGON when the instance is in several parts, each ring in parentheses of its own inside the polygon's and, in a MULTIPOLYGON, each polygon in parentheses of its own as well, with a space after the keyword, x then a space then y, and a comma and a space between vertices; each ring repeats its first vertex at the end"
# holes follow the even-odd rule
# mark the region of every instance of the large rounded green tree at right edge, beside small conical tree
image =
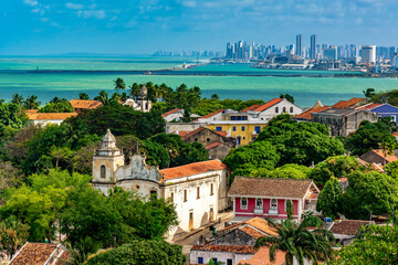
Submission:
POLYGON ((392 212, 398 183, 388 174, 377 171, 355 171, 348 177, 343 194, 343 213, 347 219, 369 220, 371 215, 392 212))

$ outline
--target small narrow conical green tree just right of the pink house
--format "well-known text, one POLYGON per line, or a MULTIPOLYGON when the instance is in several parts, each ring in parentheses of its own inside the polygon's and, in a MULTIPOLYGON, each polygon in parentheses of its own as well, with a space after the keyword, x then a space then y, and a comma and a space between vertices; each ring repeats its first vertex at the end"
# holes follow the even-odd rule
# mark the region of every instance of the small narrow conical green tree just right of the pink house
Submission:
POLYGON ((342 187, 338 179, 331 177, 324 189, 321 191, 316 202, 316 211, 324 216, 336 219, 342 211, 342 187))

